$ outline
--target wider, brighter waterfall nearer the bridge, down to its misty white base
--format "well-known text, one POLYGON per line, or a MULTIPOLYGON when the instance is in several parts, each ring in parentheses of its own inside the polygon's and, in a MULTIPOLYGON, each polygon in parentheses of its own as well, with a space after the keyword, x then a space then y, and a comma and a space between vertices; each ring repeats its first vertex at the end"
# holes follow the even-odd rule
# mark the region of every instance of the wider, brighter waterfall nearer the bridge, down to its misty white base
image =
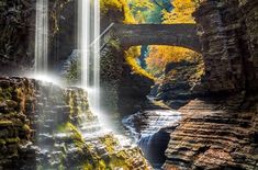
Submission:
POLYGON ((100 106, 100 1, 78 1, 78 48, 81 56, 81 87, 88 91, 91 111, 109 126, 100 106))

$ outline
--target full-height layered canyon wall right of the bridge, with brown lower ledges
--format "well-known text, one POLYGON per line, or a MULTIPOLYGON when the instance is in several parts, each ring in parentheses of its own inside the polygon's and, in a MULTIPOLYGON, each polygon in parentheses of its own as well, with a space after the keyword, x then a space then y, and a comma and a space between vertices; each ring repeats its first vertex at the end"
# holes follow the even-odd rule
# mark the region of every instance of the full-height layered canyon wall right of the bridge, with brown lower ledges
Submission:
POLYGON ((205 0, 194 13, 210 95, 179 110, 164 169, 257 169, 257 12, 254 0, 205 0))

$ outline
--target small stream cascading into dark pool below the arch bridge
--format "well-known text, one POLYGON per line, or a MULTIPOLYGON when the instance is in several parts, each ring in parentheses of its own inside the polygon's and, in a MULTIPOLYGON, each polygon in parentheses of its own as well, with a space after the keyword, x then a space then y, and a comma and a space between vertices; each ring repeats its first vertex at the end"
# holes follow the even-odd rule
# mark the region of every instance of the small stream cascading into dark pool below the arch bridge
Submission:
POLYGON ((122 124, 126 136, 133 138, 146 159, 158 170, 166 160, 165 151, 170 140, 166 128, 177 125, 181 114, 153 98, 148 100, 147 109, 124 117, 122 124))

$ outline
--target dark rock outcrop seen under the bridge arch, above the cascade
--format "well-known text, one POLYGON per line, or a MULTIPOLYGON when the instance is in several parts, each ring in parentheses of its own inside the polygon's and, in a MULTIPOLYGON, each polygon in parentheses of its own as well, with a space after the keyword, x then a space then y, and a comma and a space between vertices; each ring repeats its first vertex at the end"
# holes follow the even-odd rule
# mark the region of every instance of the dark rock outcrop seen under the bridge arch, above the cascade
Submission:
POLYGON ((153 89, 152 94, 162 100, 172 109, 179 109, 197 95, 202 95, 197 88, 201 84, 203 76, 203 60, 197 57, 193 60, 181 60, 170 63, 166 66, 165 78, 157 90, 153 89))

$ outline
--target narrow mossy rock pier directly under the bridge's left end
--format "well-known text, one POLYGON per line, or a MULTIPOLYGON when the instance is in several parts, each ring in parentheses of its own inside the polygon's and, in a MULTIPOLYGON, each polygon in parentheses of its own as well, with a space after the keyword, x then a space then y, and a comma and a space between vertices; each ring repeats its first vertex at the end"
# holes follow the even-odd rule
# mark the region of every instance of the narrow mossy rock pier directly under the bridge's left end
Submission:
POLYGON ((116 41, 110 39, 100 52, 101 105, 111 112, 117 111, 119 84, 122 79, 123 52, 116 41))

